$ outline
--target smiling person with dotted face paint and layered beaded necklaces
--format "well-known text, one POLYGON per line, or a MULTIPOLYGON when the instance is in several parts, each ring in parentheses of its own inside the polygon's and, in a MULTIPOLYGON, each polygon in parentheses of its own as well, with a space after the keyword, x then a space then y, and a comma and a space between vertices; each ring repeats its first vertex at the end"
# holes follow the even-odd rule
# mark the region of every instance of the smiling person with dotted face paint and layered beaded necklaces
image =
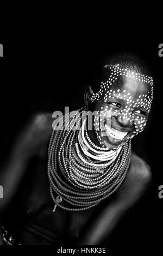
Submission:
POLYGON ((145 128, 152 99, 146 65, 123 53, 99 65, 84 107, 57 121, 35 113, 1 168, 0 244, 109 239, 152 180, 130 142, 145 128))

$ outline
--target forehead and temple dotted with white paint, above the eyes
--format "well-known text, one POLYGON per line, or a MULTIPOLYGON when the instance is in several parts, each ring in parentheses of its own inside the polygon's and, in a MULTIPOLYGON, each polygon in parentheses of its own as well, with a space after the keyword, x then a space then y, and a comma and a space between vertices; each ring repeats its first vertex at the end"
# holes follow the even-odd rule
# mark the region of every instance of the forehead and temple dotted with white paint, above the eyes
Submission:
MULTIPOLYGON (((151 101, 153 99, 153 78, 142 75, 134 71, 120 68, 120 65, 106 65, 106 72, 109 77, 107 81, 101 81, 101 87, 98 93, 93 93, 92 102, 94 100, 111 97, 112 93, 129 95, 130 97, 139 97, 140 95, 148 95, 151 101)), ((122 95, 121 95, 122 96, 122 95)))

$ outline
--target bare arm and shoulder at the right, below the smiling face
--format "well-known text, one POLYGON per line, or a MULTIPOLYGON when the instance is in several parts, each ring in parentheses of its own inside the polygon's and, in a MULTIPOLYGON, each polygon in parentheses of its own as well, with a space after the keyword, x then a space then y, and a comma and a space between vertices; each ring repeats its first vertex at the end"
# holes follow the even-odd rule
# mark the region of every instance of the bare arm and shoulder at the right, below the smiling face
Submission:
MULTIPOLYGON (((137 165, 137 164, 136 164, 137 165)), ((146 164, 139 166, 139 174, 135 174, 132 167, 124 180, 120 190, 112 198, 111 202, 103 206, 95 220, 80 234, 78 245, 98 245, 107 237, 110 237, 122 217, 130 210, 147 191, 151 184, 151 171, 146 164)))

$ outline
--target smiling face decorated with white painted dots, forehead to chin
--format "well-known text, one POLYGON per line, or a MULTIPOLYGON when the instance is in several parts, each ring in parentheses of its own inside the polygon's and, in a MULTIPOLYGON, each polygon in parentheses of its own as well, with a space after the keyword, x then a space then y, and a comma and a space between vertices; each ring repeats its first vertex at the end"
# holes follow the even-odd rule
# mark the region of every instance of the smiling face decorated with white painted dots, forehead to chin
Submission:
POLYGON ((146 126, 153 99, 153 78, 122 69, 120 65, 106 66, 107 81, 101 82, 91 101, 100 114, 96 119, 96 136, 102 147, 117 149, 142 132, 146 126))

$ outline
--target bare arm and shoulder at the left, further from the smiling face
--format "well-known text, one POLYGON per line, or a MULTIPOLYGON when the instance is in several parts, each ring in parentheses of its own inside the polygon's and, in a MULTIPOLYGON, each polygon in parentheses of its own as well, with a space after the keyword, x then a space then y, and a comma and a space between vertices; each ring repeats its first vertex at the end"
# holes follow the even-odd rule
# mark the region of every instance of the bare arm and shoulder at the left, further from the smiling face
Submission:
POLYGON ((39 153, 43 133, 46 132, 45 119, 45 115, 32 116, 16 138, 7 161, 0 169, 0 184, 3 186, 3 199, 0 199, 0 244, 2 217, 21 184, 29 161, 39 153))

